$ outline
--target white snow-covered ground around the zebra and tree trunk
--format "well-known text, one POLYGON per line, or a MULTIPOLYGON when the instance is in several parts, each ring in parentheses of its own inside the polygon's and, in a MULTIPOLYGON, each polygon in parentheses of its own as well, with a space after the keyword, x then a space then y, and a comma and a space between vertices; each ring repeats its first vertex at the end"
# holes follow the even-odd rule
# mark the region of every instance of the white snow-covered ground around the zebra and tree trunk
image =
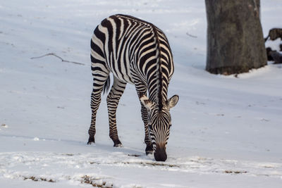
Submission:
MULTIPOLYGON (((264 36, 282 27, 282 1, 262 1, 264 36)), ((204 1, 1 0, 0 187, 281 187, 282 66, 234 76, 204 71, 204 1), (105 96, 90 125, 90 38, 114 13, 166 33, 176 71, 166 162, 145 155, 140 103, 127 86, 109 139, 105 96), (75 65, 54 56, 55 53, 75 65), (91 185, 92 184, 92 185, 91 185)), ((274 47, 276 42, 266 44, 274 47)))

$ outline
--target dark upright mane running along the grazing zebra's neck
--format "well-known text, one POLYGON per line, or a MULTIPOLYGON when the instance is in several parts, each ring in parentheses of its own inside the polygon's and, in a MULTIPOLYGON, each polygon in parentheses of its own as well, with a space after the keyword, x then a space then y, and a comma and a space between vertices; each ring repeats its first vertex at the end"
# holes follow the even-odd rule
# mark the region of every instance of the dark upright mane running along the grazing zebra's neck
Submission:
POLYGON ((158 95, 158 106, 159 106, 159 111, 161 111, 161 108, 163 108, 163 101, 162 101, 162 87, 163 87, 163 75, 161 73, 161 46, 160 46, 160 42, 159 42, 159 35, 158 35, 158 31, 157 31, 157 27, 154 26, 152 23, 150 24, 153 28, 153 32, 154 32, 154 36, 156 37, 156 45, 157 45, 157 73, 156 73, 156 77, 157 80, 159 80, 159 84, 157 84, 157 95, 158 95))

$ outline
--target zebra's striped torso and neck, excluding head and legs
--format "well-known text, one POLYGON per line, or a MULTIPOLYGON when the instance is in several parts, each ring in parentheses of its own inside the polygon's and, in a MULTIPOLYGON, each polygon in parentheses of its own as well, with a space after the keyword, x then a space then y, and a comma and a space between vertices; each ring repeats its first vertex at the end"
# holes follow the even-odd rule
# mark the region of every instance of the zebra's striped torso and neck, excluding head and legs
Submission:
POLYGON ((125 82, 147 85, 149 99, 159 109, 167 99, 173 56, 164 32, 130 15, 111 15, 94 30, 92 50, 125 82))

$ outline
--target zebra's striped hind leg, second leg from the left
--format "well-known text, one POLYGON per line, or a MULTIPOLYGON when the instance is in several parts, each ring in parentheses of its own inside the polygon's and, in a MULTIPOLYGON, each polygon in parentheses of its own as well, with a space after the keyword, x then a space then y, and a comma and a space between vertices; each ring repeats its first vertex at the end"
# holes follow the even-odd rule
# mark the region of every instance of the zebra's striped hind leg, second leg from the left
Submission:
POLYGON ((115 147, 122 146, 121 141, 118 139, 118 130, 116 129, 116 108, 118 108, 118 102, 121 99, 125 86, 126 82, 122 82, 114 77, 111 92, 106 97, 109 114, 109 136, 113 140, 115 147))

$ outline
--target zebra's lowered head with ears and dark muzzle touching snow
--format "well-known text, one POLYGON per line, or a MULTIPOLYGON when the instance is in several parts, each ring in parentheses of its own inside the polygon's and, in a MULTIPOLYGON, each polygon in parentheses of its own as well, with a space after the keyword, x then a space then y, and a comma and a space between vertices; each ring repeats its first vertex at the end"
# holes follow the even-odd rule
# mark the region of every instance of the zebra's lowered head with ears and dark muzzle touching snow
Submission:
POLYGON ((154 158, 156 161, 166 161, 166 144, 171 128, 171 113, 169 109, 176 106, 178 95, 172 96, 163 103, 159 109, 154 101, 150 101, 145 95, 140 97, 140 101, 148 110, 149 139, 154 148, 154 158))

